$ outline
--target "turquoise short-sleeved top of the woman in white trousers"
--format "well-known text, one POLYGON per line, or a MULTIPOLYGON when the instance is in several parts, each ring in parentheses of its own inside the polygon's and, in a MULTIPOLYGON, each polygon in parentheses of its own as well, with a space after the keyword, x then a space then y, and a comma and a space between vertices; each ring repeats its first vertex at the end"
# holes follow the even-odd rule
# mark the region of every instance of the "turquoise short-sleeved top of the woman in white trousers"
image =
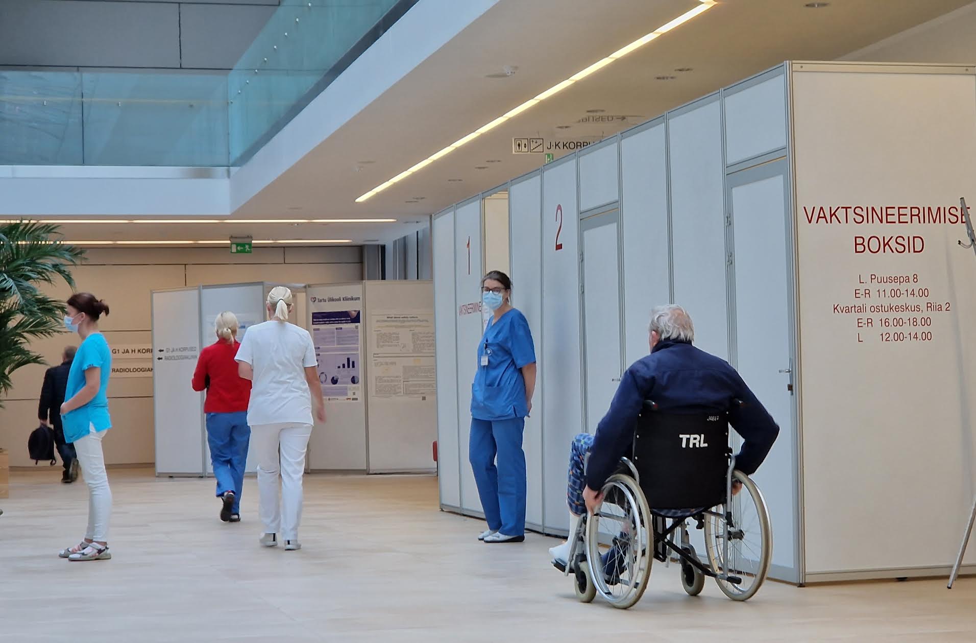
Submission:
POLYGON ((85 387, 85 371, 96 366, 102 369, 99 392, 84 407, 75 408, 66 415, 61 415, 64 442, 70 443, 84 438, 91 432, 91 426, 94 426, 96 431, 104 431, 112 427, 106 395, 108 375, 112 371, 112 352, 101 332, 93 332, 78 347, 78 352, 71 363, 71 370, 67 374, 64 400, 70 400, 85 387))

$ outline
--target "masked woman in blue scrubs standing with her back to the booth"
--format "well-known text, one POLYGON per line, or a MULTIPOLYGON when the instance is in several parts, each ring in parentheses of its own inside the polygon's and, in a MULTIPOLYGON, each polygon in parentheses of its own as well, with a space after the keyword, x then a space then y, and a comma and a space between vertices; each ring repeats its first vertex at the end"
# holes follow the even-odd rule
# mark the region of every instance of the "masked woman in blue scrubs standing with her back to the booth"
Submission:
POLYGON ((522 431, 536 388, 536 350, 529 322, 510 298, 505 273, 492 271, 481 279, 481 303, 493 315, 478 343, 468 459, 488 521, 478 536, 485 542, 525 539, 522 431))

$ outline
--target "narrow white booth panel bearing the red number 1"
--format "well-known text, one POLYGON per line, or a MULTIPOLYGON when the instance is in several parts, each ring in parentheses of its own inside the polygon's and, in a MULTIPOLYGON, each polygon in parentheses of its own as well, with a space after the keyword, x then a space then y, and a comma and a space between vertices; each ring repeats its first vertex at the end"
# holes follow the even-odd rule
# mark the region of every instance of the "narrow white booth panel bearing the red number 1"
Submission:
POLYGON ((481 501, 468 460, 471 383, 477 370, 477 346, 484 332, 481 310, 481 199, 458 206, 454 214, 455 315, 457 315, 458 445, 461 461, 461 508, 479 514, 481 501))

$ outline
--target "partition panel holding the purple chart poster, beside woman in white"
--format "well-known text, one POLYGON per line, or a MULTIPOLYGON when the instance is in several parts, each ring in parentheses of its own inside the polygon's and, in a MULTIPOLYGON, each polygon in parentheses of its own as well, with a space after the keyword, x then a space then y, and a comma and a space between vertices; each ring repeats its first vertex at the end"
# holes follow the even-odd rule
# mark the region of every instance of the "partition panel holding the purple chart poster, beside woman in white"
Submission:
POLYGON ((326 405, 326 422, 316 423, 308 441, 308 469, 365 471, 363 284, 308 285, 305 296, 326 405))

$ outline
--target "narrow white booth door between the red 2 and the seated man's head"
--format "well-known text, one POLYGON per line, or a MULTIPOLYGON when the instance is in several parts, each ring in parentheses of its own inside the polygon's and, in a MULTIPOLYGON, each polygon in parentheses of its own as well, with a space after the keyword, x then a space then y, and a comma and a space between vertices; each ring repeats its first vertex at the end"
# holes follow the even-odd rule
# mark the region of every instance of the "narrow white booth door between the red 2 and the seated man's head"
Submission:
POLYGON ((583 416, 587 432, 594 433, 624 372, 620 213, 614 208, 584 216, 580 222, 583 416))

